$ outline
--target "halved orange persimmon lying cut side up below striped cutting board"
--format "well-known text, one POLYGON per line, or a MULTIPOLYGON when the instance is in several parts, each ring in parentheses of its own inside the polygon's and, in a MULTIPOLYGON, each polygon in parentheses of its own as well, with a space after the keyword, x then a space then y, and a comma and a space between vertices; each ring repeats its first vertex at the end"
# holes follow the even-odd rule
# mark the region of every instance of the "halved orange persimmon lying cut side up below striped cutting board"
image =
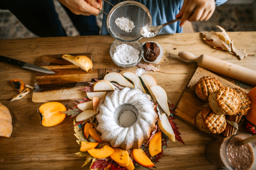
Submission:
POLYGON ((39 107, 39 112, 42 115, 43 126, 54 126, 62 122, 66 114, 62 113, 66 111, 66 107, 59 102, 44 103, 39 107))

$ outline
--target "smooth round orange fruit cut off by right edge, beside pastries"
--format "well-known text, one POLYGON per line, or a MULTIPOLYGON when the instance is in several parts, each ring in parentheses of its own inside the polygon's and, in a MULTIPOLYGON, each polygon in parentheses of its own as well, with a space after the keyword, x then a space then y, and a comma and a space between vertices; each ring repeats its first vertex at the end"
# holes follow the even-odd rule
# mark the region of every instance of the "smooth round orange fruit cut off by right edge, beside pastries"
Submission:
POLYGON ((248 111, 245 117, 249 122, 256 125, 256 87, 251 89, 248 95, 251 97, 251 109, 248 111))

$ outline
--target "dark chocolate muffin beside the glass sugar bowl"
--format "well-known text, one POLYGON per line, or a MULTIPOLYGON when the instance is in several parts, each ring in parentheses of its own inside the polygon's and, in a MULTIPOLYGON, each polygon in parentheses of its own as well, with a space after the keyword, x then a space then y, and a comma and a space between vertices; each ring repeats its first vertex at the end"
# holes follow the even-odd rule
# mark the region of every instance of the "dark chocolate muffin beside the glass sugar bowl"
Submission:
POLYGON ((154 42, 147 42, 143 45, 144 58, 147 61, 154 61, 160 54, 159 46, 154 42))

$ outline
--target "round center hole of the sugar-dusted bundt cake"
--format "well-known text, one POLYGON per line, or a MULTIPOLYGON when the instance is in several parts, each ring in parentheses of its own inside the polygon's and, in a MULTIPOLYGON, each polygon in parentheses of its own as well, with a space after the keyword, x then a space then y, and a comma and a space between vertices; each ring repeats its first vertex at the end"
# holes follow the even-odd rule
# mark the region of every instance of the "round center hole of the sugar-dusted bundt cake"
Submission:
POLYGON ((123 127, 128 128, 132 126, 138 117, 137 109, 131 104, 122 104, 115 110, 115 122, 123 127))

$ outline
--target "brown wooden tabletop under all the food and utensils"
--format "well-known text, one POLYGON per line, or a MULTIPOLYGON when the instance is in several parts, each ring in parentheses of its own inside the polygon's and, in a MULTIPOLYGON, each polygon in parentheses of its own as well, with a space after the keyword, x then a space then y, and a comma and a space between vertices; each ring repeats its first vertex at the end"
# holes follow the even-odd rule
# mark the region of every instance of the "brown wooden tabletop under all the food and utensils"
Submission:
MULTIPOLYGON (((237 49, 246 49, 248 54, 256 53, 256 32, 228 32, 237 49)), ((110 58, 109 48, 114 38, 111 36, 51 37, 35 39, 0 40, 0 55, 36 64, 39 56, 49 54, 91 53, 93 69, 118 68, 122 72, 136 71, 138 67, 122 69, 110 58)), ((243 60, 229 52, 214 49, 205 44, 199 33, 177 33, 159 35, 145 41, 156 41, 163 48, 163 57, 159 62, 160 71, 164 74, 149 71, 159 86, 167 92, 170 101, 177 105, 189 80, 197 68, 195 62, 181 60, 179 51, 189 51, 196 56, 207 54, 256 70, 256 56, 249 55, 243 60)), ((11 79, 21 79, 25 84, 34 84, 35 71, 0 62, 0 102, 9 108, 13 119, 13 132, 10 138, 0 137, 0 169, 89 169, 81 168, 85 158, 75 155, 79 151, 74 136, 73 119, 68 116, 61 124, 44 127, 37 109, 42 103, 31 101, 32 93, 24 99, 10 102, 17 95, 11 85, 11 79)), ((233 79, 221 76, 229 81, 233 79)), ((254 86, 248 84, 246 90, 254 86)), ((70 101, 69 101, 70 102, 70 101)), ((69 103, 61 102, 63 104, 69 103)), ((188 108, 189 109, 189 108, 188 108)), ((168 142, 164 156, 155 166, 157 169, 219 169, 206 158, 205 148, 214 140, 209 135, 190 126, 182 120, 175 122, 181 132, 185 146, 180 142, 168 142)), ((90 163, 89 163, 90 164, 90 163)), ((138 168, 139 169, 139 168, 138 168)))

